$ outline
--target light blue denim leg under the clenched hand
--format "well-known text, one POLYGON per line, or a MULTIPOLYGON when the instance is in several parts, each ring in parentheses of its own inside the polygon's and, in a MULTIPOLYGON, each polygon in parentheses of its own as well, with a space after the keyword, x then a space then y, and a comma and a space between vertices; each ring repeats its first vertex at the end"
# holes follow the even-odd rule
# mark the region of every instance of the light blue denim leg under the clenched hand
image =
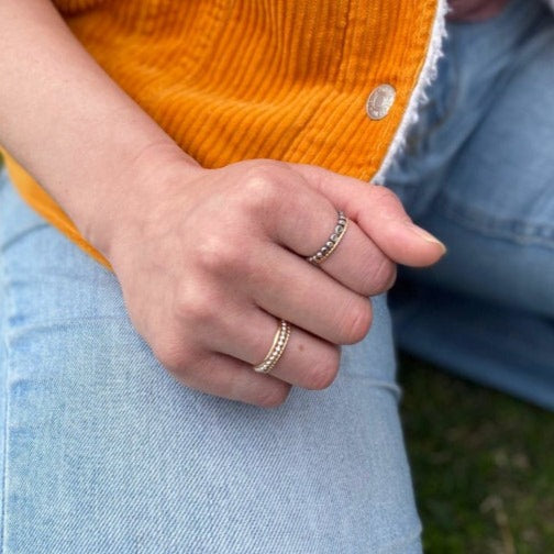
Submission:
POLYGON ((113 274, 0 179, 4 554, 421 553, 391 328, 262 409, 156 362, 113 274))

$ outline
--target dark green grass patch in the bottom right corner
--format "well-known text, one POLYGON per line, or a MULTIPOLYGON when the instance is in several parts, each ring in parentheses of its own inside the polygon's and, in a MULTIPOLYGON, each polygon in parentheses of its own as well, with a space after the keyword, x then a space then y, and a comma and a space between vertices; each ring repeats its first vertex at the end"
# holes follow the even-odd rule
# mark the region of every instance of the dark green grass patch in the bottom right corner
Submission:
POLYGON ((425 553, 554 553, 554 413, 400 365, 425 553))

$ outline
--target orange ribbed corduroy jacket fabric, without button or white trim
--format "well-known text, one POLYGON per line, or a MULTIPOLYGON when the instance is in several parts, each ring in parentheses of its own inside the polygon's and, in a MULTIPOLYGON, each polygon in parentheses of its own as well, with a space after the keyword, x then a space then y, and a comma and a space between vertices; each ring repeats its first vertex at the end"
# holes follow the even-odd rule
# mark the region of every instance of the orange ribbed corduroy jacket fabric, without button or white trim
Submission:
MULTIPOLYGON (((204 167, 246 158, 317 164, 368 180, 425 59, 436 0, 57 0, 111 77, 204 167), (365 112, 397 90, 380 121, 365 112)), ((97 261, 15 162, 22 197, 97 261)))

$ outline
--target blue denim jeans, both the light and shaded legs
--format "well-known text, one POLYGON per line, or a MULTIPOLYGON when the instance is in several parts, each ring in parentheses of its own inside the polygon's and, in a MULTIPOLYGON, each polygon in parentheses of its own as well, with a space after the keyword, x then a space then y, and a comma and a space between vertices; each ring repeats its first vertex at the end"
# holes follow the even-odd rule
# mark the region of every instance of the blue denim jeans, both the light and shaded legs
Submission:
MULTIPOLYGON (((387 185, 450 254, 402 275, 398 337, 554 407, 554 19, 511 0, 448 32, 387 185)), ((3 174, 2 552, 420 553, 389 311, 374 304, 323 391, 264 410, 190 390, 132 328, 115 277, 3 174)))

